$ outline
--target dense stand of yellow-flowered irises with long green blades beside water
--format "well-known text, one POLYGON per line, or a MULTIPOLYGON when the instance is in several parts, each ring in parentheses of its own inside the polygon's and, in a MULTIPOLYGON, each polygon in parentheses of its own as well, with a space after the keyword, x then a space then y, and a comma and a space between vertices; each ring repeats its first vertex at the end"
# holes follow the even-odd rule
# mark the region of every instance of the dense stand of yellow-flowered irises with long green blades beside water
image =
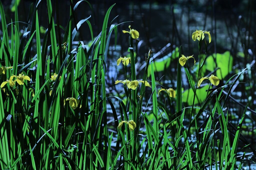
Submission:
POLYGON ((216 70, 202 77, 211 43, 209 31, 189 33, 199 56, 182 51, 180 46, 174 68, 176 84, 165 87, 155 79, 151 50, 144 52, 144 73, 136 74, 139 28, 130 26, 131 22, 113 24, 109 15, 114 5, 106 11, 102 31, 95 36, 91 16, 78 22, 74 17, 81 3, 91 7, 87 1, 70 1, 70 18, 66 26, 61 26, 52 2, 46 0, 48 28, 43 33, 38 20, 41 1, 31 6, 32 15, 25 26, 18 22, 17 3, 15 19, 7 21, 0 2, 1 169, 241 168, 245 152, 238 155, 238 143, 248 105, 231 139, 227 98, 222 98, 222 90, 231 89, 247 68, 228 81, 214 76, 216 70), (82 24, 91 34, 87 45, 76 35, 82 24), (118 32, 120 25, 129 25, 130 30, 118 32), (116 80, 112 86, 121 83, 124 95, 111 96, 106 94, 105 61, 113 42, 110 40, 118 43, 117 35, 127 39, 129 55, 114 56, 124 79, 116 80), (75 47, 74 38, 79 39, 75 47), (194 65, 196 75, 190 71, 194 65), (183 104, 183 76, 193 93, 189 107, 183 104), (202 86, 208 89, 199 105, 195 100, 202 86), (152 118, 145 107, 152 108, 152 118), (188 125, 184 125, 184 119, 188 125))

